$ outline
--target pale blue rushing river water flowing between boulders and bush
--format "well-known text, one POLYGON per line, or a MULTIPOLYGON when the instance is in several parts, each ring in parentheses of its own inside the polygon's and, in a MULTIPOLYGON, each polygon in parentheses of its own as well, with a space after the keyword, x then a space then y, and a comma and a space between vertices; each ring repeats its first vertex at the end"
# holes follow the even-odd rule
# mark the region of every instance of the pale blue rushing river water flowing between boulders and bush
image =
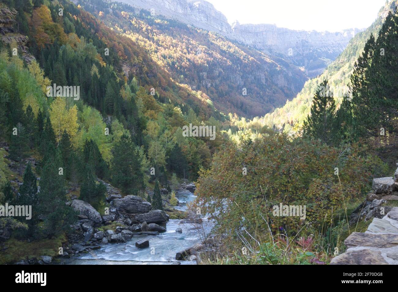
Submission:
MULTIPOLYGON (((186 210, 187 202, 195 199, 189 191, 177 191, 179 201, 178 210, 186 210)), ((182 223, 181 220, 170 219, 166 225, 166 231, 157 236, 137 235, 125 243, 108 243, 101 245, 100 249, 90 253, 82 253, 70 259, 62 259, 66 265, 153 265, 153 264, 178 264, 176 253, 203 240, 203 230, 199 225, 182 223), (182 233, 176 232, 177 228, 182 233), (139 249, 135 242, 140 239, 149 239, 149 247, 139 249)), ((201 227, 201 226, 200 226, 201 227)), ((208 232, 211 229, 210 222, 203 220, 203 227, 208 232)), ((196 261, 180 261, 181 264, 195 264, 196 261)))

